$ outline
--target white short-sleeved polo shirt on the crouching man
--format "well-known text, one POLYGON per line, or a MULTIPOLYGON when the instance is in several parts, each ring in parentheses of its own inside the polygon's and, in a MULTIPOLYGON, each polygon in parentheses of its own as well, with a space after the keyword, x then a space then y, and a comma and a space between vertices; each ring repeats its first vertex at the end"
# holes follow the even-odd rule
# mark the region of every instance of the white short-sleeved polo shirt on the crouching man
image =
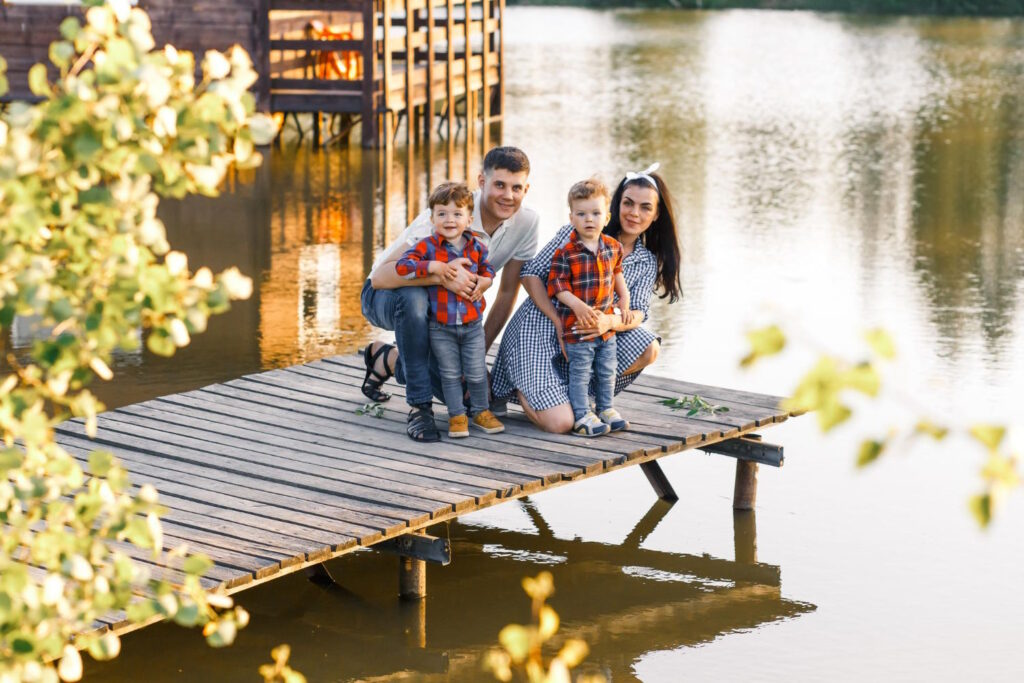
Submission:
MULTIPOLYGON (((490 262, 495 270, 501 270, 513 258, 524 262, 534 258, 534 255, 537 254, 538 233, 541 225, 541 217, 536 211, 520 206, 511 218, 501 222, 494 234, 488 236, 480 223, 479 189, 473 193, 473 206, 476 207, 476 211, 473 213, 473 222, 469 228, 487 248, 487 261, 490 262)), ((371 276, 382 263, 397 260, 417 242, 429 237, 433 229, 434 226, 430 222, 430 209, 427 209, 401 231, 397 240, 380 253, 374 261, 374 267, 370 270, 371 276)))

